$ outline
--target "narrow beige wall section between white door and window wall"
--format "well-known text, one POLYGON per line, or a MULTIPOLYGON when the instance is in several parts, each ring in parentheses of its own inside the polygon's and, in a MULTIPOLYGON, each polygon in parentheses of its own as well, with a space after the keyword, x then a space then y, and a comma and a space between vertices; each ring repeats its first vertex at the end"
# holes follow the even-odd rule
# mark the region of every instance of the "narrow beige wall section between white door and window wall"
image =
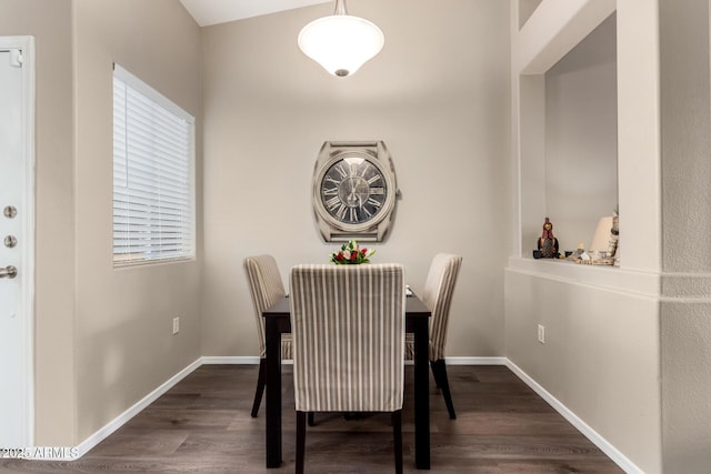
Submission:
POLYGON ((77 422, 71 2, 0 0, 0 34, 34 37, 34 432, 38 445, 67 446, 77 422))

